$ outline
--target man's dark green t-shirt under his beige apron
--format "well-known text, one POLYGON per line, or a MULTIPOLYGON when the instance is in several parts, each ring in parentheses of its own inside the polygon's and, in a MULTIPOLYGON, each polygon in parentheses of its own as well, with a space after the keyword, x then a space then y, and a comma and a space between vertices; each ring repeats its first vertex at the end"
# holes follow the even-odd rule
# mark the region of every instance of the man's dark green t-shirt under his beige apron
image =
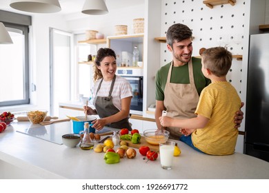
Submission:
MULTIPOLYGON (((161 67, 156 74, 155 99, 157 101, 164 101, 163 92, 164 92, 164 88, 166 87, 166 81, 168 77, 170 64, 171 63, 168 63, 164 65, 163 67, 161 67)), ((200 96, 200 93, 203 90, 203 88, 209 85, 211 81, 210 79, 207 79, 206 77, 204 77, 203 72, 201 72, 201 59, 192 57, 192 67, 193 67, 193 75, 195 79, 195 87, 200 96)), ((182 65, 179 67, 173 66, 170 83, 183 83, 183 84, 190 83, 188 65, 182 65)))

